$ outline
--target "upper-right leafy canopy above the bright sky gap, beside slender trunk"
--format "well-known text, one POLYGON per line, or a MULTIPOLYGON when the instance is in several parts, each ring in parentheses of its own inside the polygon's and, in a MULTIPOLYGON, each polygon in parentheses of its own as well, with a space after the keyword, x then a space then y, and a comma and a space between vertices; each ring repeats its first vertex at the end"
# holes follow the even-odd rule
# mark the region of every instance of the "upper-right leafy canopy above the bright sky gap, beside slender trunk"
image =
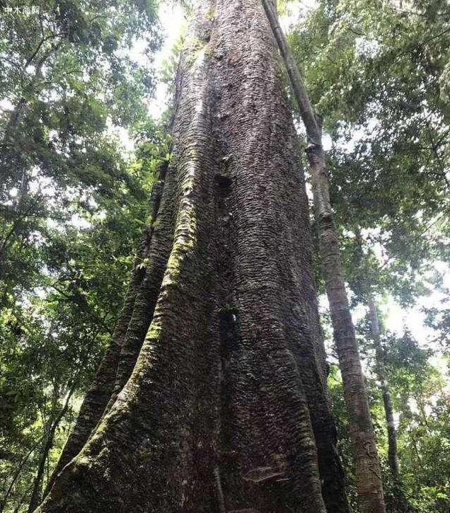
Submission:
POLYGON ((408 301, 408 292, 421 292, 425 261, 449 255, 442 82, 450 12, 441 0, 405 5, 324 0, 290 42, 333 140, 331 195, 342 235, 362 235, 364 253, 382 246, 378 278, 408 301))

